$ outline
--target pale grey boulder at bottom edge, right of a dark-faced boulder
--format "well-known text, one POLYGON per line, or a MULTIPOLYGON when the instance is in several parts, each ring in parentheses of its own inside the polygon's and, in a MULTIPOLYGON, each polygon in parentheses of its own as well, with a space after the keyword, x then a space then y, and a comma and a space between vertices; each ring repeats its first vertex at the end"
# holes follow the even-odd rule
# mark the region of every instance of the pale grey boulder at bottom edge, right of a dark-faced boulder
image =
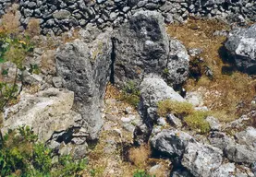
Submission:
POLYGON ((222 164, 223 152, 219 148, 201 143, 189 142, 181 160, 181 164, 194 176, 211 177, 212 171, 222 164))

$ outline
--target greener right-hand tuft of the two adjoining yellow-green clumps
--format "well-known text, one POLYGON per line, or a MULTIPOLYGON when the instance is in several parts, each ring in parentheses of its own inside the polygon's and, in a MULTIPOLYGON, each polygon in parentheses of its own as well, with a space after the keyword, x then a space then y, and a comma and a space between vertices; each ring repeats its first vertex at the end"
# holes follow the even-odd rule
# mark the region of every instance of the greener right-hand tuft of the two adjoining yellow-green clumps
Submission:
POLYGON ((186 116, 184 122, 189 128, 194 129, 201 134, 206 134, 210 131, 210 125, 205 121, 205 118, 208 115, 209 112, 195 111, 186 116))

